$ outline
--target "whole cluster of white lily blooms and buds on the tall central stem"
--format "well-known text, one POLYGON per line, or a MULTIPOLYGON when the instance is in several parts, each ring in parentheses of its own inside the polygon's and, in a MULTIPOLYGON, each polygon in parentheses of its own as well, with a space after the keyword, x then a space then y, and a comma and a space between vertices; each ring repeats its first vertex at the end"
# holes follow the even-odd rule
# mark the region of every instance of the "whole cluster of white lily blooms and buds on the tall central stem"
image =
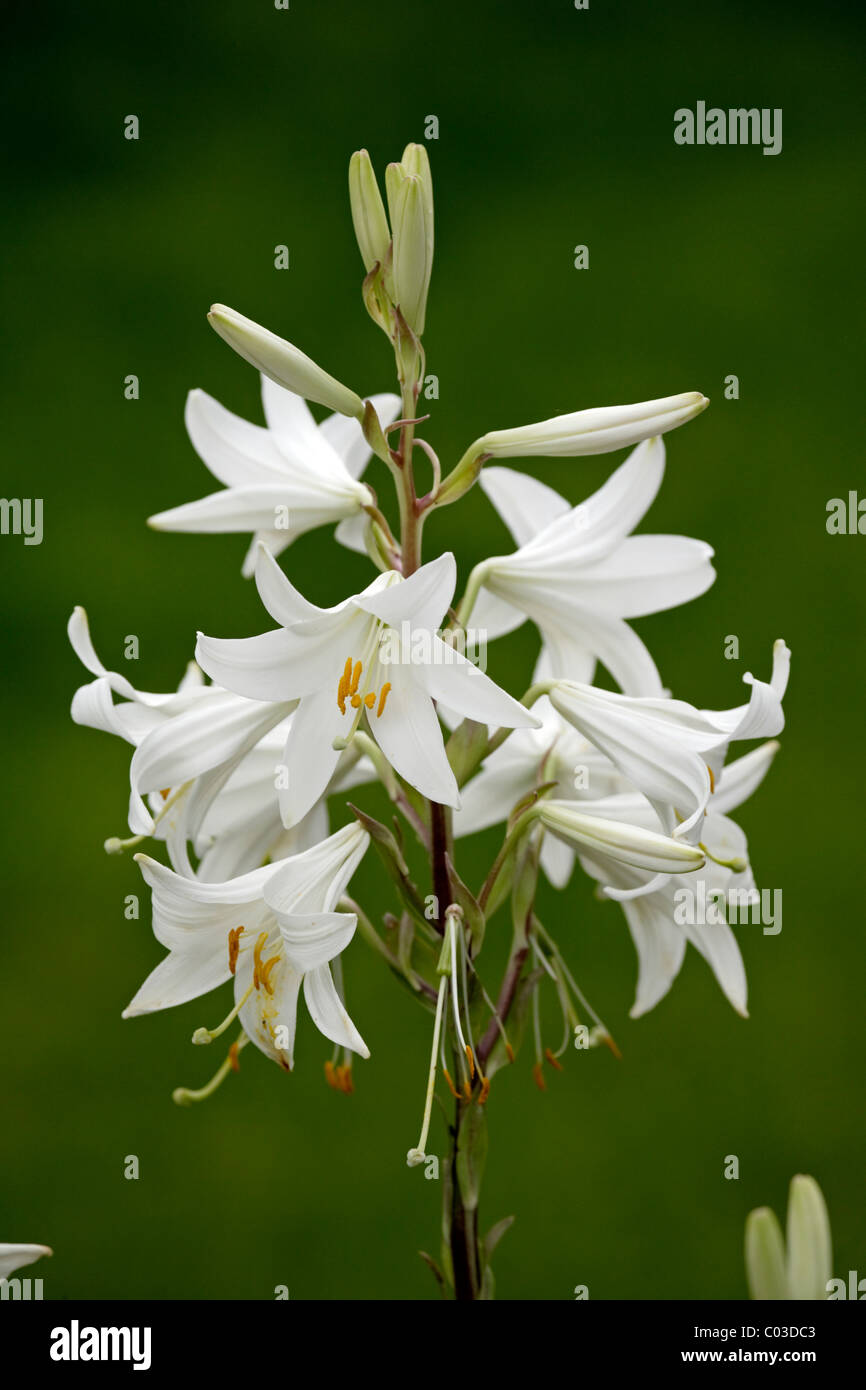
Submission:
MULTIPOLYGON (((424 1123, 409 1151, 417 1163, 436 1074, 467 1104, 484 1104, 495 1070, 517 1051, 478 974, 485 924, 509 892, 525 934, 520 969, 527 959, 531 970, 538 1083, 545 1058, 559 1065, 584 1015, 591 1042, 613 1045, 538 920, 539 872, 567 890, 578 860, 599 892, 621 905, 638 956, 634 1016, 670 990, 688 942, 745 1015, 734 933, 674 922, 674 892, 699 880, 713 892, 755 888, 745 835, 730 813, 777 751, 790 652, 777 641, 767 680, 746 674, 742 703, 706 710, 670 695, 628 626, 698 598, 714 580, 703 542, 632 534, 663 480, 663 435, 708 404, 696 392, 488 432, 446 477, 432 448, 413 439, 409 453, 424 449, 434 482, 424 498, 414 484, 407 495, 406 453, 388 436, 399 431, 405 441, 420 423, 411 407, 432 257, 425 152, 409 146, 389 167, 388 213, 366 152, 353 157, 350 195, 364 302, 395 342, 400 395, 361 398, 292 343, 214 306, 211 325, 261 375, 265 423, 190 392, 186 430, 220 488, 150 525, 247 535, 243 574, 254 577, 270 624, 254 637, 199 634, 177 691, 154 694, 101 663, 78 607, 70 639, 90 680, 75 692, 72 717, 132 748, 129 837, 106 848, 154 840, 168 858, 135 856, 152 891, 154 935, 168 954, 124 1016, 186 1004, 229 981, 234 988, 228 1016, 199 1027, 193 1042, 210 1044, 235 1022, 238 1037, 213 1080, 179 1088, 175 1099, 211 1094, 250 1041, 291 1072, 302 991, 334 1048, 328 1080, 350 1090, 352 1056, 370 1055, 348 1012, 342 970, 357 933, 434 1015, 424 1123), (320 423, 310 403, 327 409, 320 423), (626 461, 578 505, 502 466, 619 449, 631 449, 626 461), (395 474, 402 521, 411 520, 399 535, 364 481, 373 456, 395 474), (478 564, 455 602, 455 556, 420 563, 406 537, 417 545, 425 512, 474 484, 514 548, 478 564), (278 563, 299 535, 320 527, 334 527, 335 543, 366 553, 373 570, 364 589, 332 607, 311 603, 278 563), (453 638, 470 620, 489 641, 525 621, 537 628, 538 663, 520 699, 459 651, 453 638), (594 684, 599 664, 617 691, 594 684), (731 758, 746 739, 765 742, 731 758), (354 808, 346 813, 345 794, 374 781, 428 852, 434 812, 446 809, 446 901, 432 916, 392 831, 354 808), (457 874, 455 842, 495 824, 505 826, 502 852, 473 892, 457 874), (402 915, 386 913, 382 930, 349 895, 371 845, 400 902, 402 915), (542 1045, 542 984, 562 1009, 559 1049, 542 1045)), ((434 883, 441 890, 442 878, 434 883)))

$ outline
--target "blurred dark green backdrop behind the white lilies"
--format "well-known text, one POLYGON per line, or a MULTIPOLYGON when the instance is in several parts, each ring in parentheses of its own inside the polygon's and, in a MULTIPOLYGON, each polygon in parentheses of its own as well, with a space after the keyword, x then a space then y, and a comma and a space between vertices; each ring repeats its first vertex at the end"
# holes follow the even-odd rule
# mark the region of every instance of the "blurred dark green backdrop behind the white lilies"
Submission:
MULTIPOLYGON (((142 919, 124 919, 136 866, 101 849, 125 833, 128 751, 71 724, 83 674, 65 641, 82 603, 106 663, 126 669, 136 634, 129 677, 167 689, 196 628, 267 626, 239 575, 243 538, 145 527, 211 489, 183 432, 189 388, 260 418, 254 373, 204 313, 229 303, 360 392, 389 389, 388 345, 360 306, 346 164, 366 145, 382 170, 435 114, 428 432, 443 460, 488 428, 706 392, 710 410, 669 436, 645 528, 710 541, 719 580, 637 626, 698 705, 740 701, 746 669, 767 676, 776 637, 794 651, 783 752, 740 813, 759 884, 784 891, 778 937, 741 933, 748 1022, 691 949, 667 999, 630 1022, 620 910, 580 878, 544 891, 623 1061, 573 1054, 546 1094, 525 1054, 496 1079, 482 1220, 517 1213, 498 1293, 742 1297, 744 1218, 783 1209, 801 1170, 827 1197, 837 1272, 866 1273, 866 539, 824 528, 827 500, 866 486, 862 15, 638 0, 6 14, 3 493, 44 499, 44 542, 0 538, 0 1237, 54 1247, 39 1266, 51 1298, 270 1298, 275 1284, 292 1298, 435 1297, 416 1251, 436 1245, 439 1188, 405 1163, 428 1017, 360 941, 349 1002, 373 1059, 352 1098, 325 1087, 327 1047, 304 1019, 292 1077, 250 1048, 239 1077, 179 1111, 172 1087, 215 1065, 189 1037, 222 998, 121 1022, 161 948, 143 894, 142 919), (783 153, 676 146, 673 113, 699 99, 783 107, 783 153), (278 243, 288 271, 274 268, 278 243), (577 243, 588 271, 573 268, 577 243), (124 399, 129 373, 138 402, 124 399), (723 659, 727 634, 740 662, 723 659), (129 1154, 138 1182, 122 1176, 129 1154), (723 1177, 728 1154, 738 1182, 723 1177)), ((577 502, 617 461, 525 467, 577 502)), ((427 546, 466 566, 507 548, 480 493, 436 517, 427 546)), ((327 532, 285 564, 317 602, 368 577, 327 532)), ((520 691, 532 657, 527 628, 496 648, 492 674, 520 691)), ((466 878, 495 845, 464 847, 466 878)), ((392 905, 373 859, 356 890, 392 905)), ((445 1152, 441 1129, 432 1147, 445 1152)))

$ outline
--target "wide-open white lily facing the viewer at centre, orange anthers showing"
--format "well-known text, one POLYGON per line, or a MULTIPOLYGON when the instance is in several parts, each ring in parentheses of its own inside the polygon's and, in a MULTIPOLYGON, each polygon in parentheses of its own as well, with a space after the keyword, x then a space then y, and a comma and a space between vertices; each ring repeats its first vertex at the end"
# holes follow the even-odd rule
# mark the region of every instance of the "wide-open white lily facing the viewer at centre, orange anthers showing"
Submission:
POLYGON ((388 571, 336 607, 320 609, 260 550, 256 582, 281 627, 236 641, 199 634, 197 660, 213 680, 250 699, 299 701, 284 753, 288 785, 279 792, 286 827, 322 795, 361 719, 395 771, 448 806, 460 799, 434 701, 481 723, 538 724, 436 635, 455 581, 455 557, 446 552, 407 580, 388 571))

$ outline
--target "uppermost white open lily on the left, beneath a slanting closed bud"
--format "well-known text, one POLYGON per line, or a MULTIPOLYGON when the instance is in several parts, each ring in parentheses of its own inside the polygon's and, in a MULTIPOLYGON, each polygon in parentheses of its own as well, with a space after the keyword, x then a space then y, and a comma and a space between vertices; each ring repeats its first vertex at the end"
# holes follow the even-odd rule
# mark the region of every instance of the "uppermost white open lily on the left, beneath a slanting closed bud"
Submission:
MULTIPOLYGON (((359 481, 373 452, 360 423, 338 413, 317 425, 303 396, 265 375, 261 402, 267 428, 232 414, 203 391, 189 392, 186 431, 224 488, 160 512, 147 524, 157 531, 254 532, 243 562, 246 577, 256 567, 259 543, 279 555, 299 535, 329 523, 339 523, 338 541, 363 552, 363 509, 374 496, 359 481)), ((400 398, 385 392, 371 396, 370 404, 388 425, 400 398)))

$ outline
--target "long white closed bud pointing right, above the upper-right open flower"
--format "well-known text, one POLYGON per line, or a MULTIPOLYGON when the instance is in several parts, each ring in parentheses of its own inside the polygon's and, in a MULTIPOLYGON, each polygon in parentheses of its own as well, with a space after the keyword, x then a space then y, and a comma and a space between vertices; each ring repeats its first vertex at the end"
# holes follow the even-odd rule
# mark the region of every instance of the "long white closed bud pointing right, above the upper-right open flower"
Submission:
POLYGON ((687 391, 680 396, 642 400, 634 406, 575 410, 535 425, 495 430, 477 443, 480 452, 493 459, 567 459, 584 453, 610 453, 676 430, 708 406, 709 400, 699 391, 687 391))

